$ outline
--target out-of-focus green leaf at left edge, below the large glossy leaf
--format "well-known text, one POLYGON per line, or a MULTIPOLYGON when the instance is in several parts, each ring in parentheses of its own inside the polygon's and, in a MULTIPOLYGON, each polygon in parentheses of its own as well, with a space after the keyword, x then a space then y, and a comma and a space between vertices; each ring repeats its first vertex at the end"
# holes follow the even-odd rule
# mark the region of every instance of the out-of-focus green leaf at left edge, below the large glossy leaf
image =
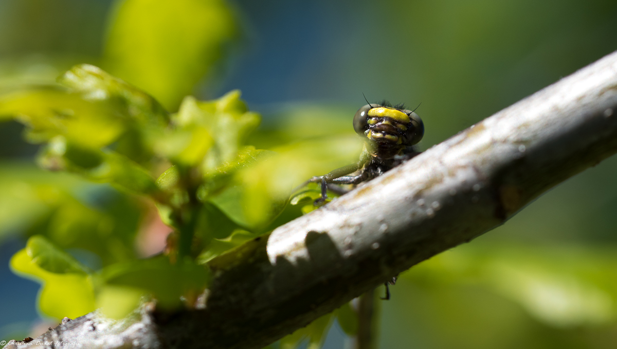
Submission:
POLYGON ((135 257, 143 209, 136 196, 78 175, 0 163, 0 238, 44 235, 60 248, 96 253, 107 265, 135 257))

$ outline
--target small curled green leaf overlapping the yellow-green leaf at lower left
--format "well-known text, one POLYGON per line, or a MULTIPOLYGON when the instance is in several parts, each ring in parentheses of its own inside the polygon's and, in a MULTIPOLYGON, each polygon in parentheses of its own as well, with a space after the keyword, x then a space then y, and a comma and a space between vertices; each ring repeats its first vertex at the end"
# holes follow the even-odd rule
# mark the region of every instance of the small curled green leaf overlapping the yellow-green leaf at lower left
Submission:
POLYGON ((82 266, 77 259, 60 250, 41 235, 29 238, 25 250, 31 263, 35 263, 45 271, 57 274, 88 272, 88 269, 82 266))

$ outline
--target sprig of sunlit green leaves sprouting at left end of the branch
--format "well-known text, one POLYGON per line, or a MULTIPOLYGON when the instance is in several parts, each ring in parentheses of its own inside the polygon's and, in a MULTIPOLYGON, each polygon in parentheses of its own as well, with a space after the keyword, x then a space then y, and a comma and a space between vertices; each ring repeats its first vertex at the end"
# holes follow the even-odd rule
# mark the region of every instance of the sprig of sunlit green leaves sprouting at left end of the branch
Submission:
MULTIPOLYGON (((235 219, 238 227, 251 229, 255 237, 260 233, 260 226, 278 216, 289 196, 269 195, 270 191, 263 190, 259 182, 252 187, 241 185, 253 175, 246 169, 259 162, 260 151, 242 148, 247 133, 259 123, 259 116, 247 112, 237 91, 210 103, 187 98, 180 111, 169 116, 146 93, 92 65, 74 67, 59 78, 59 83, 63 88, 56 88, 54 93, 60 98, 41 96, 38 88, 26 90, 19 98, 9 94, 2 99, 0 111, 28 126, 28 140, 46 142, 38 157, 44 168, 67 170, 93 182, 110 183, 125 193, 141 195, 142 200, 154 201, 162 211, 168 212, 165 219, 176 229, 173 235, 176 243, 168 246, 168 256, 117 260, 94 274, 46 238, 35 235, 28 240, 25 250, 15 255, 11 266, 21 274, 42 280, 44 288, 39 306, 49 316, 63 317, 63 313, 74 316, 94 310, 94 293, 100 295, 97 305, 104 313, 124 316, 126 311, 131 311, 125 305, 136 305, 141 296, 136 290, 154 296, 160 306, 177 306, 181 296, 186 305, 191 306, 209 279, 207 267, 196 264, 191 254, 209 253, 212 257, 213 253, 226 250, 218 246, 215 253, 208 248, 215 246, 210 243, 213 238, 226 238, 212 227, 205 228, 212 224, 212 216, 204 221, 212 204, 222 210, 219 212, 230 216, 231 221, 235 219), (65 96, 69 98, 63 98, 65 96), (100 103, 100 107, 96 103, 100 103), (83 108, 84 105, 87 107, 83 108), (88 119, 93 111, 98 113, 96 121, 88 119), (114 132, 95 139, 102 128, 96 122, 104 118, 117 121, 112 128, 114 132), (91 124, 95 124, 94 127, 91 124), (118 140, 138 144, 138 149, 143 151, 131 159, 115 151, 112 143, 118 140), (144 154, 149 154, 149 158, 144 154), (172 165, 159 181, 152 173, 151 164, 155 162, 172 165), (246 187, 252 191, 242 193, 246 187), (234 194, 225 195, 229 191, 234 194), (255 202, 260 205, 255 206, 255 202), (252 211, 258 213, 247 214, 252 211), (199 242, 195 243, 194 238, 199 242), (205 251, 201 251, 204 243, 205 251), (72 285, 73 292, 64 292, 65 284, 72 285), (72 302, 76 292, 88 295, 87 301, 72 302), (110 293, 114 297, 110 297, 110 293), (116 303, 115 298, 125 301, 116 303), (123 311, 117 304, 125 307, 123 311)), ((120 141, 118 146, 123 149, 120 141)), ((67 201, 81 208, 72 200, 67 201)), ((85 214, 75 215, 76 211, 54 212, 54 219, 59 216, 60 224, 76 227, 73 233, 80 236, 72 243, 64 234, 54 234, 51 224, 41 230, 69 248, 80 246, 75 244, 80 238, 93 240, 91 232, 85 228, 96 224, 99 217, 96 213, 88 214, 87 208, 81 209, 85 214)), ((135 233, 130 232, 130 235, 135 233)), ((103 257, 109 261, 114 256, 101 256, 101 259, 103 257)))

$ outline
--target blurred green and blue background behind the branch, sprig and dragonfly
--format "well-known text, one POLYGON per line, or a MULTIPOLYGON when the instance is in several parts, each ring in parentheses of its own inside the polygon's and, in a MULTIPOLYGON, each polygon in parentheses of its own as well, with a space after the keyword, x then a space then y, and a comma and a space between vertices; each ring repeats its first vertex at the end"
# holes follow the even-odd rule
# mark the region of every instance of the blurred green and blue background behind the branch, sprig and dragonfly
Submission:
MULTIPOLYGON (((345 164, 359 151, 350 136, 362 93, 421 103, 426 149, 615 51, 616 27, 610 0, 0 0, 0 93, 53 83, 79 63, 172 112, 185 95, 239 89, 263 116, 252 144, 337 139, 345 164)), ((91 231, 99 240, 70 252, 96 269, 102 243, 116 259, 147 255, 168 232, 147 203, 36 169, 38 146, 22 132, 0 124, 2 338, 51 326, 36 309, 39 284, 8 267, 28 235, 91 231)), ((615 348, 616 175, 607 159, 400 275, 378 303, 378 347, 615 348)), ((324 347, 350 338, 334 324, 324 347)))

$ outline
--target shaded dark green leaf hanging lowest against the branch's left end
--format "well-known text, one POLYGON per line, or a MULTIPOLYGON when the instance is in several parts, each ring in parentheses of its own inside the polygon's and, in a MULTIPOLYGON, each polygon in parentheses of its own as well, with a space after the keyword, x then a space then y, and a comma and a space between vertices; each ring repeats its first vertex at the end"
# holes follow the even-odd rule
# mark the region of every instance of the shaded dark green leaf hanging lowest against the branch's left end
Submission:
POLYGON ((210 273, 190 260, 170 264, 167 256, 155 256, 113 264, 101 272, 107 285, 131 287, 154 296, 161 306, 181 303, 181 296, 196 296, 207 287, 210 273))

